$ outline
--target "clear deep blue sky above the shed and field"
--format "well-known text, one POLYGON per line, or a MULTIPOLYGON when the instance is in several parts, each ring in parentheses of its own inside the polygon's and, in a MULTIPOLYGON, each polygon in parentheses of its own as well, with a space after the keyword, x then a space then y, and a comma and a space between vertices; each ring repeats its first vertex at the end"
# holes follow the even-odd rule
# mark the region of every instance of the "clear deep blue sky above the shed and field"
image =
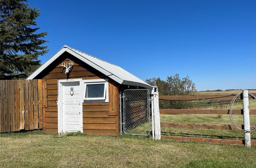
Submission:
POLYGON ((142 80, 176 73, 198 91, 256 88, 255 0, 28 0, 50 51, 67 45, 142 80))

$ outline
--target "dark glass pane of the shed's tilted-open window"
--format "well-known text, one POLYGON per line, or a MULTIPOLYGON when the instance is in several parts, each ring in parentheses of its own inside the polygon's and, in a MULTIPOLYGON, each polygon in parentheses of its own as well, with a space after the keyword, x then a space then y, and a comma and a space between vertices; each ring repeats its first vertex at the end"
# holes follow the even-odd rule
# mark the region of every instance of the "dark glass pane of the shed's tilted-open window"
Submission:
POLYGON ((85 98, 105 98, 105 84, 86 84, 85 98))

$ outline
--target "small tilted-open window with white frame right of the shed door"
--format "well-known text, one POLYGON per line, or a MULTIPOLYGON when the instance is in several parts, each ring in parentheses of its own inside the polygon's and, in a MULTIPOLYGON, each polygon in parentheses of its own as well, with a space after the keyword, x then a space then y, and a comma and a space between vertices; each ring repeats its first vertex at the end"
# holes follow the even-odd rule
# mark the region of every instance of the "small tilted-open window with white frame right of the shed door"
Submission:
POLYGON ((106 87, 107 81, 102 79, 94 79, 94 80, 84 80, 84 96, 83 100, 93 101, 93 100, 106 100, 106 87), (104 81, 104 82, 103 82, 104 81))

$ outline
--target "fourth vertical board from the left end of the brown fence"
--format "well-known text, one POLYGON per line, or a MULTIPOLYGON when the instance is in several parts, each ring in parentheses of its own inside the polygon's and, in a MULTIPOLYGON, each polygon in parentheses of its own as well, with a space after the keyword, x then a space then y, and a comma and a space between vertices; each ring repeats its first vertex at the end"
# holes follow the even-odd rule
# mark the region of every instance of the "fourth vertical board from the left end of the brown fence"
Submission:
POLYGON ((20 81, 14 80, 15 83, 15 129, 20 131, 20 81))

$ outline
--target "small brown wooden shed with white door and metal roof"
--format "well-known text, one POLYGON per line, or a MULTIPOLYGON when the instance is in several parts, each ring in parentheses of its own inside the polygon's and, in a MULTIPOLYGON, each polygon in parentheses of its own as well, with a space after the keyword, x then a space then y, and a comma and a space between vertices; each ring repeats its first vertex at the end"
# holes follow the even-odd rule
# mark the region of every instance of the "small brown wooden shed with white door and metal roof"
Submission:
POLYGON ((46 81, 43 130, 60 134, 81 131, 118 136, 120 92, 152 88, 121 67, 69 46, 63 46, 27 79, 46 81))

